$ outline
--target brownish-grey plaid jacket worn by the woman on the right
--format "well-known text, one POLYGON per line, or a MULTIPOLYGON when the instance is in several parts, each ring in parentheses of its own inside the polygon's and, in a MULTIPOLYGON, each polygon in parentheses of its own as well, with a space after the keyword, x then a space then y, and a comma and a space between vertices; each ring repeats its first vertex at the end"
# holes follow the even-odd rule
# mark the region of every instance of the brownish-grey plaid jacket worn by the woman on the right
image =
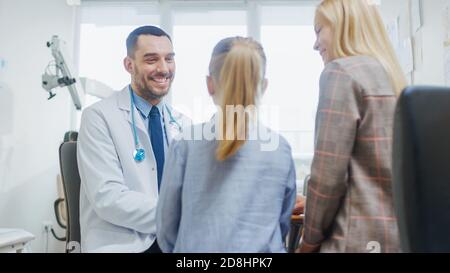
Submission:
POLYGON ((335 60, 320 78, 303 243, 321 252, 399 252, 391 150, 396 96, 368 56, 335 60))

